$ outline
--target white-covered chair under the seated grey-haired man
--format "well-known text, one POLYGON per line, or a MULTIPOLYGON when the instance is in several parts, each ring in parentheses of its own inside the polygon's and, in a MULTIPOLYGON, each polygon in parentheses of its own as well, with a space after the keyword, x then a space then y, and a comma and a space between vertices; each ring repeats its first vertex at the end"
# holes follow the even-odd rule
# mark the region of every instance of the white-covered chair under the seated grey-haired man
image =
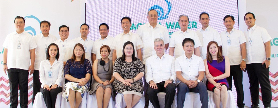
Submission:
MULTIPOLYGON (((157 93, 157 97, 158 97, 158 101, 159 101, 159 105, 160 108, 164 108, 165 107, 165 92, 159 92, 157 93)), ((174 101, 171 105, 171 108, 176 108, 177 107, 177 93, 175 93, 175 98, 174 101)), ((154 106, 152 105, 152 103, 149 101, 149 106, 148 108, 154 108, 154 106)))

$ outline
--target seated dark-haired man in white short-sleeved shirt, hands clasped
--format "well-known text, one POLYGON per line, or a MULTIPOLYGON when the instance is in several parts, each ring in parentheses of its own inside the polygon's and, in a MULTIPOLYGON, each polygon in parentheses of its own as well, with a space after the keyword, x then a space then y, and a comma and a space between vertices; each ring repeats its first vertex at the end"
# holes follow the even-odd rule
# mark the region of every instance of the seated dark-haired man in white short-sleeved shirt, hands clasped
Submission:
POLYGON ((200 82, 204 78, 205 65, 203 59, 193 54, 194 40, 183 39, 183 50, 185 55, 178 57, 175 61, 177 75, 177 108, 183 108, 185 93, 196 92, 200 94, 201 108, 208 108, 208 94, 205 83, 200 82))

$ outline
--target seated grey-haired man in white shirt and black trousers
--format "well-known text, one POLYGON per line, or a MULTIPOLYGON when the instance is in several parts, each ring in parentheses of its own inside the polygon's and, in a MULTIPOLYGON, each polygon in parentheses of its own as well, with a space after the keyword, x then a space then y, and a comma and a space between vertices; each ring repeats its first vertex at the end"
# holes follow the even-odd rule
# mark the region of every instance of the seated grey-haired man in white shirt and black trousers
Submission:
POLYGON ((175 98, 175 58, 165 54, 164 49, 164 41, 161 38, 154 39, 156 54, 146 60, 146 82, 150 85, 147 94, 154 108, 160 108, 158 92, 166 92, 165 108, 170 108, 175 98))

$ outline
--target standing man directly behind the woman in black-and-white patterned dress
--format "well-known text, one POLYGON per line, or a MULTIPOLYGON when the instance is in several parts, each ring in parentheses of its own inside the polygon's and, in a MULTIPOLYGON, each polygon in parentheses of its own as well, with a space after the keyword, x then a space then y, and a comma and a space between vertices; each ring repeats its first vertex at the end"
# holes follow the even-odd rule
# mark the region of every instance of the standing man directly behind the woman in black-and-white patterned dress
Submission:
POLYGON ((117 59, 117 57, 122 57, 123 55, 123 46, 124 43, 127 41, 130 41, 133 43, 134 48, 135 48, 135 57, 139 58, 142 60, 142 53, 141 53, 141 48, 143 48, 143 43, 138 34, 133 33, 130 31, 131 27, 131 19, 127 16, 123 17, 121 20, 122 23, 122 29, 124 32, 118 34, 112 44, 112 49, 114 49, 114 55, 113 55, 113 61, 117 59))

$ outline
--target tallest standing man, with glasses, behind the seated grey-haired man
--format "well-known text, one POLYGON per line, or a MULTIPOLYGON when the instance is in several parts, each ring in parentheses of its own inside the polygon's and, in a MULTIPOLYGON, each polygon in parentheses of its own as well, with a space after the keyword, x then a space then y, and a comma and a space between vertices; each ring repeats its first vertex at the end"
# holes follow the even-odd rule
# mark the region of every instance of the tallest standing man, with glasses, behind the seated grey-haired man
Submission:
MULTIPOLYGON (((158 20, 158 13, 154 9, 150 9, 148 11, 147 18, 149 20, 148 23, 138 27, 137 34, 140 36, 144 48, 142 48, 142 59, 143 59, 143 64, 146 64, 146 60, 156 54, 154 50, 154 39, 155 38, 161 38, 165 43, 165 51, 167 51, 169 47, 169 42, 170 42, 170 37, 169 37, 169 32, 166 27, 160 25, 157 23, 158 20)), ((147 72, 147 70, 146 70, 147 72)), ((146 90, 148 83, 146 82, 146 79, 144 79, 144 96, 146 99, 146 104, 145 107, 148 106, 149 100, 148 100, 148 95, 146 95, 146 90)))

